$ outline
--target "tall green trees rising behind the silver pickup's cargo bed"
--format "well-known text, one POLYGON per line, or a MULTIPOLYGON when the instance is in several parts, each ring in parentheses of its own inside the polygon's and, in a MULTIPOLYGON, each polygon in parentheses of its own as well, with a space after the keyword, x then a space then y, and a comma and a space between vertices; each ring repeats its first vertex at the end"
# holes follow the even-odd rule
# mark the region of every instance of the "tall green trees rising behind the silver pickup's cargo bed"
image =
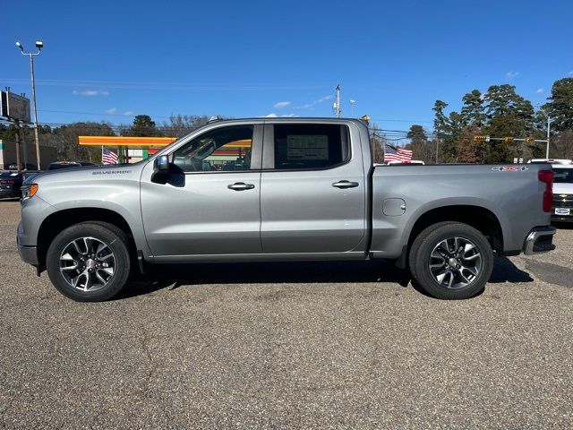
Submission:
POLYGON ((500 163, 514 158, 545 157, 544 142, 476 142, 476 135, 545 139, 547 117, 552 118, 550 157, 573 159, 573 78, 552 85, 543 106, 534 108, 509 84, 492 85, 482 93, 472 90, 462 97, 458 111, 436 100, 432 137, 422 125, 412 125, 406 145, 415 159, 426 163, 500 163))

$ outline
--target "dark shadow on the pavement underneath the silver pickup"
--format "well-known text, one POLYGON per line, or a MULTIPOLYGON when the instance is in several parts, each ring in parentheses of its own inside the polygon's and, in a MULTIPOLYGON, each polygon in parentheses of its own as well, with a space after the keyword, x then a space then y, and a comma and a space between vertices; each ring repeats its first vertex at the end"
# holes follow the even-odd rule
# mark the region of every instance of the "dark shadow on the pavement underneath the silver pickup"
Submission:
MULTIPOLYGON (((393 262, 233 262, 161 264, 148 266, 149 271, 116 297, 124 299, 158 291, 210 284, 312 284, 312 283, 377 283, 397 284, 406 288, 412 280, 408 271, 398 269, 393 262)), ((502 257, 495 259, 490 283, 532 282, 526 271, 502 257)), ((423 293, 415 285, 413 287, 423 293)), ((423 293, 425 294, 425 293, 423 293)))

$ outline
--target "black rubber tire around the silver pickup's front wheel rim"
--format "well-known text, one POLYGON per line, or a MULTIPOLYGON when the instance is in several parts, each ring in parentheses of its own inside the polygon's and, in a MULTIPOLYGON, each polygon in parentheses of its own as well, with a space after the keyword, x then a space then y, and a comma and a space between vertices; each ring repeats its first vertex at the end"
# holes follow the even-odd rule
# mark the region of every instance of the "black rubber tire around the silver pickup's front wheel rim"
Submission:
MULTIPOLYGON (((127 236, 120 228, 104 222, 82 222, 66 228, 54 238, 47 249, 46 269, 49 279, 65 297, 72 298, 78 302, 99 302, 114 297, 127 283, 130 268, 131 256, 127 236), (102 282, 98 289, 92 291, 90 289, 83 290, 73 287, 69 283, 69 279, 66 280, 63 272, 60 270, 60 256, 63 254, 64 249, 73 241, 82 237, 92 237, 106 244, 109 253, 113 254, 114 257, 113 275, 107 278, 105 285, 102 282)), ((87 283, 87 281, 84 283, 87 283)))

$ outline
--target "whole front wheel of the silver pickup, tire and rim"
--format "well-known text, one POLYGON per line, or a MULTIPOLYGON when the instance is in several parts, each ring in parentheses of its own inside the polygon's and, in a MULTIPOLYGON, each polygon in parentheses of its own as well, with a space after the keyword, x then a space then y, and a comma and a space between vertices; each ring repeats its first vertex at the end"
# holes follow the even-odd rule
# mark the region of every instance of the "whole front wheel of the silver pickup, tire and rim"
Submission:
POLYGON ((47 274, 64 296, 79 302, 114 297, 130 274, 127 236, 102 222, 64 229, 47 249, 47 274))

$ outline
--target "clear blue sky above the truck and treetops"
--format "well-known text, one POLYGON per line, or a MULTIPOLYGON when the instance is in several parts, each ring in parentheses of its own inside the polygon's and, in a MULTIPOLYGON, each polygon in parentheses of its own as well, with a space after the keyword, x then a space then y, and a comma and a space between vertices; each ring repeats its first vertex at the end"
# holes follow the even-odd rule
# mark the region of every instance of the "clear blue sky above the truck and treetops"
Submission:
MULTIPOLYGON (((8 9, 7 0, 0 0, 8 9)), ((13 3, 10 3, 13 4, 13 3)), ((432 105, 511 83, 533 103, 573 76, 570 1, 19 1, 0 26, 0 86, 30 94, 38 120, 131 123, 148 114, 368 114, 432 128, 432 105)))

